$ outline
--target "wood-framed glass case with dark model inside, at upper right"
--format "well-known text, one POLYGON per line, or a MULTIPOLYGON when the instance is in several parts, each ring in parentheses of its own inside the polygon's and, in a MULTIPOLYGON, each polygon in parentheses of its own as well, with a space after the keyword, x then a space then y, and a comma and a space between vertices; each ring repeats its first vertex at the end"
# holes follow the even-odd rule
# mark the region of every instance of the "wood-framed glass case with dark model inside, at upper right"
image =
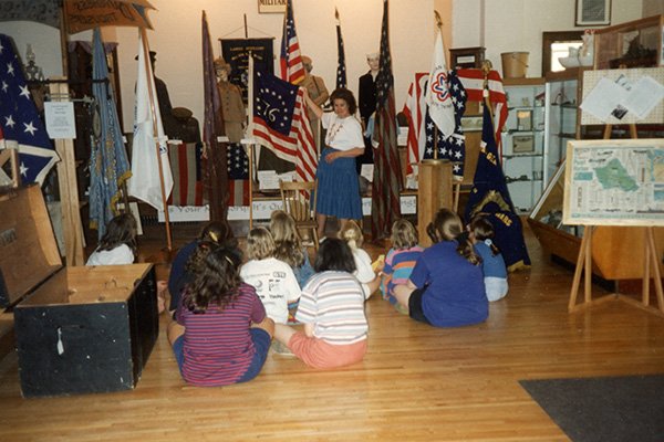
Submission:
POLYGON ((664 15, 653 15, 594 33, 594 69, 662 66, 664 15))

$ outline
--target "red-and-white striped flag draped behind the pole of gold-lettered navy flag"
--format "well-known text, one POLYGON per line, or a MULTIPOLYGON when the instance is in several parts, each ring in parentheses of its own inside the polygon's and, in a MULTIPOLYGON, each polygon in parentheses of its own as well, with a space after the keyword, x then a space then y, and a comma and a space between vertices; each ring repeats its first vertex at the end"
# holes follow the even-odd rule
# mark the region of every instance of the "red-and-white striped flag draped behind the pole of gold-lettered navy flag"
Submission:
MULTIPOLYGON (((460 69, 457 70, 457 75, 461 80, 468 99, 471 102, 484 101, 484 73, 478 69, 460 69)), ((502 78, 498 71, 489 71, 487 75, 487 88, 489 90, 489 102, 495 107, 494 115, 497 116, 495 126, 495 136, 498 143, 498 151, 500 151, 500 133, 505 122, 507 120, 507 95, 502 88, 502 78)))

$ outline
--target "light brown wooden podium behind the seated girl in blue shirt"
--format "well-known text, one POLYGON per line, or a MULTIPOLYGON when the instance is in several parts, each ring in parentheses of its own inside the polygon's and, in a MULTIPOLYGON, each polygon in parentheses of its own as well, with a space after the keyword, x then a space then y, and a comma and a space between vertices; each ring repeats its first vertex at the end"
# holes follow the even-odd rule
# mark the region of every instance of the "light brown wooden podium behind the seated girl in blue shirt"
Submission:
POLYGON ((426 227, 439 209, 453 208, 452 162, 447 159, 425 159, 418 165, 417 234, 419 244, 432 245, 426 227))

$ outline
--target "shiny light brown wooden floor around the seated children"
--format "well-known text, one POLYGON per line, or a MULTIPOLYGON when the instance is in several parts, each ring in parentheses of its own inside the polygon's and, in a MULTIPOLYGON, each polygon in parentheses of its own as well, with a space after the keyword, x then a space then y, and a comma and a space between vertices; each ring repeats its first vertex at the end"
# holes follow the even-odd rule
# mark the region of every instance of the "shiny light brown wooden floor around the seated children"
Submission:
POLYGON ((527 241, 532 269, 510 275, 487 323, 436 329, 374 296, 369 354, 339 370, 270 355, 248 383, 188 387, 165 315, 133 391, 22 399, 11 354, 0 441, 567 441, 518 381, 664 372, 664 319, 621 302, 569 315, 571 271, 527 241))

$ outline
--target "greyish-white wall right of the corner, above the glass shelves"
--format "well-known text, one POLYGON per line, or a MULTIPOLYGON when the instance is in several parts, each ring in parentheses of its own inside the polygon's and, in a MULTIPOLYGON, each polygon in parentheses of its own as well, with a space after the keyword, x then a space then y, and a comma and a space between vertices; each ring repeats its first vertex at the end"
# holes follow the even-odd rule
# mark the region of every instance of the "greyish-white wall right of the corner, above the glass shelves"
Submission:
MULTIPOLYGON (((611 3, 611 24, 642 17, 643 0, 612 0, 611 3)), ((541 76, 542 32, 582 29, 574 27, 574 8, 575 0, 454 0, 453 44, 454 48, 484 45, 486 59, 500 72, 502 52, 529 52, 527 75, 541 76), (479 20, 483 4, 484 43, 479 20)))

